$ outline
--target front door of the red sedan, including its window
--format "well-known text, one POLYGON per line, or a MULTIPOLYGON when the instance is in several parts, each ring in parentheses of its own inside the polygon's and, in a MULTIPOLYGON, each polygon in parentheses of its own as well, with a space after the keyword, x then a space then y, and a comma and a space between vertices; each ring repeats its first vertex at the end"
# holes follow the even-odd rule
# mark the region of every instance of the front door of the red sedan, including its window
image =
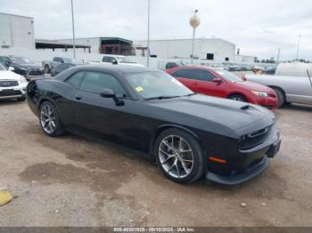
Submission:
POLYGON ((227 96, 226 84, 213 82, 213 79, 218 78, 218 76, 209 70, 193 68, 193 76, 197 92, 217 97, 227 96))

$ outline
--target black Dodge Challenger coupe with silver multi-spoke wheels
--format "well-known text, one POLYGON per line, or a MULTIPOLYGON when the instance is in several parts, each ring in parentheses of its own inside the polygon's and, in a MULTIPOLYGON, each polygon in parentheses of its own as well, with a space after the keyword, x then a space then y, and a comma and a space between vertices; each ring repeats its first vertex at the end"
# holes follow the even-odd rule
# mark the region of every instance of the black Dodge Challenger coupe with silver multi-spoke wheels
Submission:
POLYGON ((45 134, 85 133, 144 152, 180 183, 248 181, 281 144, 269 110, 193 93, 150 68, 70 68, 27 89, 45 134))

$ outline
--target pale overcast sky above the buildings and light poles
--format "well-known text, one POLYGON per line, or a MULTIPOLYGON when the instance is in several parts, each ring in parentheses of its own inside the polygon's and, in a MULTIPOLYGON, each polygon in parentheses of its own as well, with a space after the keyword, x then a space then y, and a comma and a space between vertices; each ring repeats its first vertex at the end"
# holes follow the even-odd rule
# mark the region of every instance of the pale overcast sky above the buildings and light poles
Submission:
MULTIPOLYGON (((119 36, 144 40, 148 0, 73 0, 76 37, 119 36)), ((151 0, 151 39, 191 38, 198 10, 198 38, 222 38, 241 54, 312 60, 311 0, 151 0)), ((34 17, 37 39, 70 38, 70 0, 0 0, 0 12, 34 17)))

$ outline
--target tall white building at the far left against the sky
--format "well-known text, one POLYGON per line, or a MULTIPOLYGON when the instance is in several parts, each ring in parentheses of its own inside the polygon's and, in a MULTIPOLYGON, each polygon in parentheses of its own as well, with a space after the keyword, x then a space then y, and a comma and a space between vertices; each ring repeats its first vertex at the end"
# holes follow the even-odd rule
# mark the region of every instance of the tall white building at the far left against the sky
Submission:
POLYGON ((35 49, 34 19, 0 12, 0 48, 35 49))

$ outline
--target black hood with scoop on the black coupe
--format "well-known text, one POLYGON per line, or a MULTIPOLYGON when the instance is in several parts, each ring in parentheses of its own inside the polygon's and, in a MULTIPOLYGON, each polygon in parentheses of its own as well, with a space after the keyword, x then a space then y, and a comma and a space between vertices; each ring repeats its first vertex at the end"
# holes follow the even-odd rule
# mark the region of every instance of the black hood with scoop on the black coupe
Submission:
POLYGON ((167 116, 180 125, 235 138, 275 124, 275 115, 266 108, 207 95, 148 101, 165 108, 167 116))

